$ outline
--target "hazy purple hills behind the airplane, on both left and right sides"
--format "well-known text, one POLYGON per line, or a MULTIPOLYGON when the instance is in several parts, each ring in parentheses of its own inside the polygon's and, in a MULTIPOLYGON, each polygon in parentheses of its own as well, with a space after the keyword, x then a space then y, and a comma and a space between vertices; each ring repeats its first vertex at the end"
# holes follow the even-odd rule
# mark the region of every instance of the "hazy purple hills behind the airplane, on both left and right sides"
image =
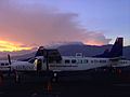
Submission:
MULTIPOLYGON (((83 56, 94 56, 102 54, 104 50, 108 48, 110 50, 113 45, 102 45, 102 46, 95 46, 95 45, 83 45, 83 44, 69 44, 69 45, 61 45, 57 47, 60 51, 61 55, 63 56, 75 56, 76 53, 82 53, 83 56)), ((0 52, 0 55, 3 54, 0 52)), ((13 59, 26 59, 29 57, 34 57, 36 52, 28 52, 24 55, 18 55, 18 56, 12 56, 13 59)), ((123 47, 123 56, 127 59, 130 59, 130 46, 125 46, 123 47)), ((6 57, 2 57, 1 59, 6 59, 6 57)))

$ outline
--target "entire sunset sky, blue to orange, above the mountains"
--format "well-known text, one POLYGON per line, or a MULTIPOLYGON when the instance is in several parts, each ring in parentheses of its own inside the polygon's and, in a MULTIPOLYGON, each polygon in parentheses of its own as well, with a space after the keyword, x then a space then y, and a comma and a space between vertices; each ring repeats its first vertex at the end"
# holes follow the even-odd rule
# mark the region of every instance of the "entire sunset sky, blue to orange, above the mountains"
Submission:
POLYGON ((130 0, 0 0, 0 51, 117 37, 130 45, 130 0))

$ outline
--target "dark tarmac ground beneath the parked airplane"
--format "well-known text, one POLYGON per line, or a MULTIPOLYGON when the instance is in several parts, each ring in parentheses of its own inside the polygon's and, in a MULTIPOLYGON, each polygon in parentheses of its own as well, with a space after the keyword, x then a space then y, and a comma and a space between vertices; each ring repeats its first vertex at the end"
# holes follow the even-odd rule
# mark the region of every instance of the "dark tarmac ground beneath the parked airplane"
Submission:
POLYGON ((48 77, 14 75, 0 83, 0 97, 130 97, 130 74, 91 72, 82 75, 58 77, 49 83, 48 77))

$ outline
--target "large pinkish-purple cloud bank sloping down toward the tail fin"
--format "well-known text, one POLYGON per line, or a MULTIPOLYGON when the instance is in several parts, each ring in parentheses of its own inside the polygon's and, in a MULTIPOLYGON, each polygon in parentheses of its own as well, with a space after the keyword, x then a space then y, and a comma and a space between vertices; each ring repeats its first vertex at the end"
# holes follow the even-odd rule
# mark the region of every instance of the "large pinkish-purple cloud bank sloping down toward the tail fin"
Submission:
POLYGON ((41 0, 0 0, 0 39, 37 45, 64 41, 108 44, 110 40, 102 32, 84 29, 76 18, 77 13, 62 13, 41 0))

